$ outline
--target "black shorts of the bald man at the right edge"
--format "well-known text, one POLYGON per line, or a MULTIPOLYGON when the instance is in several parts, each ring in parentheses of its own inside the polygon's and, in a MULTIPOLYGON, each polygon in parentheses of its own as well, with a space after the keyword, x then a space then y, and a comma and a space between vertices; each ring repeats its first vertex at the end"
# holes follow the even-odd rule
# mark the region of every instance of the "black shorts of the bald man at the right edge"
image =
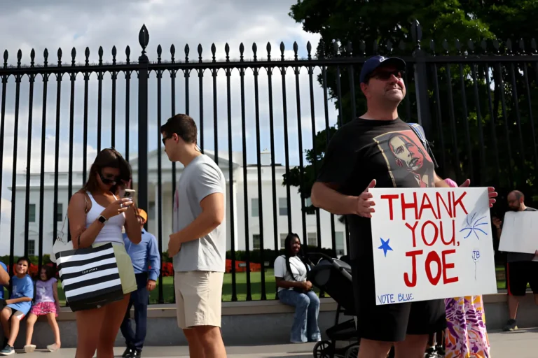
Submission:
POLYGON ((506 264, 506 281, 508 294, 511 296, 525 296, 527 283, 534 294, 538 294, 538 262, 518 261, 506 264))

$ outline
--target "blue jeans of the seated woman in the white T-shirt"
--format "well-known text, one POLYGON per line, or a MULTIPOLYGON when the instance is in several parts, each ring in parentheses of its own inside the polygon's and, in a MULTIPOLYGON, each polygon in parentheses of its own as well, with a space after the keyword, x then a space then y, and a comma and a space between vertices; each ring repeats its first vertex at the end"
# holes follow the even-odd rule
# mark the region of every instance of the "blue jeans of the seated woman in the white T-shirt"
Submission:
POLYGON ((321 339, 317 317, 319 298, 313 291, 298 293, 293 289, 282 289, 278 293, 280 301, 295 307, 294 324, 291 326, 291 342, 315 342, 321 339))

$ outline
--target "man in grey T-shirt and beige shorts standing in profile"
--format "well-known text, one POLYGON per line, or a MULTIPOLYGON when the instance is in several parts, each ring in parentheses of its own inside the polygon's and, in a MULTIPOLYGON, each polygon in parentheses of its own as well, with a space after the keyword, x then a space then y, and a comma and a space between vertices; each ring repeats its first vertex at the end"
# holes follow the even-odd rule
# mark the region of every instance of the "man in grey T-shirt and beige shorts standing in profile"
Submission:
POLYGON ((174 193, 173 231, 177 324, 191 357, 225 358, 221 337, 222 282, 226 267, 226 180, 219 166, 196 146, 198 131, 188 115, 163 127, 168 159, 184 169, 174 193))

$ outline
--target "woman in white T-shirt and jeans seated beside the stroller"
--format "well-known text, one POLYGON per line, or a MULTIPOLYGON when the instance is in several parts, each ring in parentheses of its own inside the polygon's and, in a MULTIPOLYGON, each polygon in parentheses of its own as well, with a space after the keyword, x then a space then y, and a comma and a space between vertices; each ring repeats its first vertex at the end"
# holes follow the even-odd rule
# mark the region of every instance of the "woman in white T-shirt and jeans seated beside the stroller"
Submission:
POLYGON ((306 280, 310 266, 308 260, 303 257, 301 241, 297 234, 287 236, 284 250, 285 255, 275 259, 275 279, 280 301, 295 307, 290 341, 291 343, 321 341, 317 327, 319 298, 312 291, 312 282, 306 280))

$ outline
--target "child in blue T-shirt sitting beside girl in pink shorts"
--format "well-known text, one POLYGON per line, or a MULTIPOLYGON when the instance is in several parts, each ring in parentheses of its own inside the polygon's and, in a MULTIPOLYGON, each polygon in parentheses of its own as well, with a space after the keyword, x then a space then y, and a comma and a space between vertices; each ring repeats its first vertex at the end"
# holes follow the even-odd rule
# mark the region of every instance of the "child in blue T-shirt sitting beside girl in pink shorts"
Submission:
POLYGON ((28 314, 32 308, 34 297, 34 282, 27 275, 30 260, 21 257, 15 265, 15 275, 11 278, 12 289, 10 299, 6 299, 6 307, 1 311, 1 322, 4 335, 8 338, 6 347, 0 350, 0 355, 13 355, 15 339, 19 334, 20 320, 28 314), (11 326, 11 327, 10 327, 11 326))

